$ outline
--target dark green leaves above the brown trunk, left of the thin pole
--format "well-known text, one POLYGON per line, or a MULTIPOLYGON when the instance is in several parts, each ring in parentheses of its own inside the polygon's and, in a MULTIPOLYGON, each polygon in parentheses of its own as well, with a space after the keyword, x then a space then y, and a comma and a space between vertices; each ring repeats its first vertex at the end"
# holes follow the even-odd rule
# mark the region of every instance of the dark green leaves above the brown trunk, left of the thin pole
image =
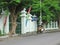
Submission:
POLYGON ((15 9, 15 13, 22 10, 22 8, 32 7, 31 13, 40 13, 40 0, 0 0, 0 8, 9 9, 12 11, 12 8, 15 9))

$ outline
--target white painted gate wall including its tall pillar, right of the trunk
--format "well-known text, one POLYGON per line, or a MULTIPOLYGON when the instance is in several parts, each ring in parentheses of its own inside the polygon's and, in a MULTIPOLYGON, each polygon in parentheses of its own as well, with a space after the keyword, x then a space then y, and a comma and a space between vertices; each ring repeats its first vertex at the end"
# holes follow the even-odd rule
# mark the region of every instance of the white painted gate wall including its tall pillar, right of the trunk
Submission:
POLYGON ((32 21, 31 14, 26 14, 25 9, 21 12, 21 33, 37 31, 37 21, 32 21), (27 23, 26 23, 27 21, 27 23))

